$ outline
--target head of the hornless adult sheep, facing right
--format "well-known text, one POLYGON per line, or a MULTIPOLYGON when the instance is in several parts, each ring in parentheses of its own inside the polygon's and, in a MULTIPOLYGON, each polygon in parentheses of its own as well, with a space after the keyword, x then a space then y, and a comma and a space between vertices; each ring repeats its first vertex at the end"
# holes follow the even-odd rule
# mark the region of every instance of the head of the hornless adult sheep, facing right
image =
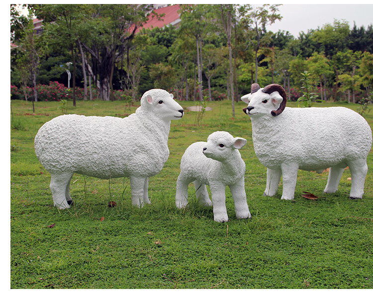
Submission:
POLYGON ((141 108, 165 121, 180 120, 184 116, 184 110, 174 100, 174 95, 162 89, 145 92, 141 98, 141 108))

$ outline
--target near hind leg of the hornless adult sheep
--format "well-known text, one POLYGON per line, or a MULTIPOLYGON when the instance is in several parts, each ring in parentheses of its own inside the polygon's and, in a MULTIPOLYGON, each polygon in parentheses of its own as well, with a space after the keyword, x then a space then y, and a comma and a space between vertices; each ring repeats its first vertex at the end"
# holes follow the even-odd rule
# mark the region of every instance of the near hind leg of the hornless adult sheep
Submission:
MULTIPOLYGON (((69 189, 70 180, 73 172, 51 172, 51 189, 53 196, 53 203, 59 209, 70 208, 68 199, 66 199, 66 191, 69 189)), ((69 192, 69 200, 71 200, 69 192)))

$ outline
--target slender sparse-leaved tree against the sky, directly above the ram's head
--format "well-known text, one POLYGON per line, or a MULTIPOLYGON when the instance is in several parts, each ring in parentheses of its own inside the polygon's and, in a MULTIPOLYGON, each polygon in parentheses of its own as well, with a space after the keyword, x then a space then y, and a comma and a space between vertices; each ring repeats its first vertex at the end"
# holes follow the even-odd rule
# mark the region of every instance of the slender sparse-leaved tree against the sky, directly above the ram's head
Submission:
POLYGON ((246 29, 254 34, 255 51, 255 82, 258 82, 258 51, 264 41, 269 43, 269 38, 264 38, 266 26, 273 24, 276 20, 281 20, 282 16, 277 13, 281 4, 263 4, 260 7, 251 7, 250 4, 242 5, 239 9, 242 21, 246 29))

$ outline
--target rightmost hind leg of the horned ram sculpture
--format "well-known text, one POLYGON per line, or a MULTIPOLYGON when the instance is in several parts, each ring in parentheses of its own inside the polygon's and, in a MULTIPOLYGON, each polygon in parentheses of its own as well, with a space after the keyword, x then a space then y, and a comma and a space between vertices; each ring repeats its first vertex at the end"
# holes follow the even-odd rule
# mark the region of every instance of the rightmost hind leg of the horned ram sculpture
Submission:
POLYGON ((368 173, 367 159, 359 158, 354 161, 348 162, 351 172, 351 191, 350 198, 363 198, 364 183, 368 173))

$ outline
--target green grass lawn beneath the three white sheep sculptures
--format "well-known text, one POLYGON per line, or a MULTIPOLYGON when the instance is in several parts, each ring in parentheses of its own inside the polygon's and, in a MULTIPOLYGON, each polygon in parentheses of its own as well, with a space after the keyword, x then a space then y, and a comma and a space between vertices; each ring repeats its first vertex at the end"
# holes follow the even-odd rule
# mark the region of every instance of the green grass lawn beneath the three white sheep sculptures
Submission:
MULTIPOLYGON (((362 200, 350 200, 345 170, 339 190, 323 194, 328 173, 299 171, 294 201, 264 197, 266 168, 255 155, 246 106, 209 102, 201 126, 196 102, 180 102, 182 120, 171 123, 170 157, 149 181, 152 204, 131 205, 127 178, 102 180, 75 174, 75 206, 58 210, 49 189, 50 174, 33 147, 38 129, 61 115, 58 102, 11 101, 10 131, 10 286, 12 289, 372 289, 373 151, 362 200), (230 221, 213 221, 211 207, 195 197, 175 207, 180 160, 193 142, 215 131, 247 139, 240 152, 246 163, 246 194, 251 220, 235 218, 229 189, 230 221), (308 191, 319 198, 301 196, 308 191), (117 206, 108 207, 109 201, 117 206), (48 227, 54 225, 52 227, 48 227)), ((325 103, 323 106, 358 105, 325 103)), ((68 113, 124 117, 139 106, 123 102, 78 101, 68 113)), ((297 107, 295 103, 288 103, 297 107)), ((371 106, 372 108, 372 106, 371 106)), ((371 128, 373 111, 366 116, 371 128)), ((189 186, 189 195, 194 188, 189 186)))

